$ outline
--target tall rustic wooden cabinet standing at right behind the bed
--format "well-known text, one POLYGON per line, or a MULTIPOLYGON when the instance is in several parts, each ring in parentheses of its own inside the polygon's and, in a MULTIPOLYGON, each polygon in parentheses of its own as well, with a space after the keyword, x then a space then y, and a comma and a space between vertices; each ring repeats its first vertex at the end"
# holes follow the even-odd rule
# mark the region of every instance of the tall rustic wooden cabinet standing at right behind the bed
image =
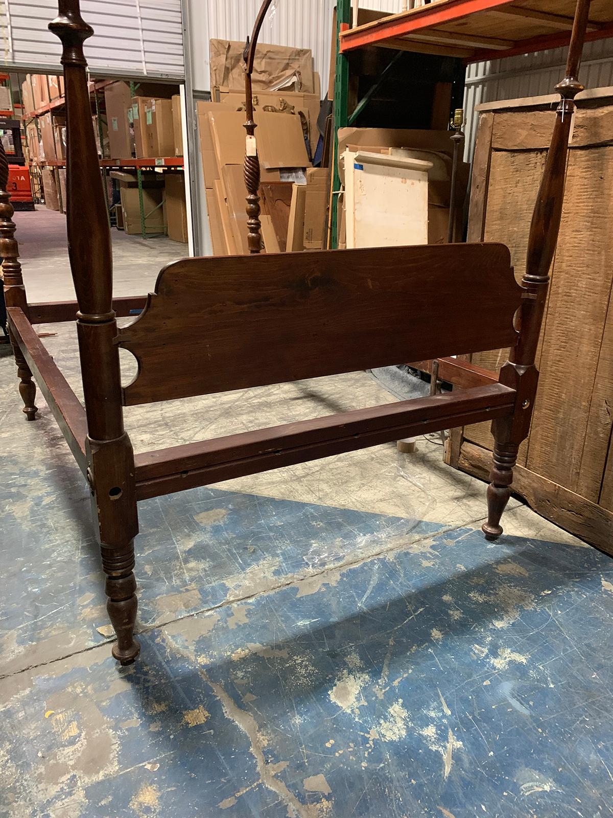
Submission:
MULTIPOLYGON (((502 241, 517 281, 556 97, 480 106, 469 241, 502 241)), ((613 553, 613 88, 584 92, 571 130, 566 194, 537 366, 539 389, 513 488, 539 514, 613 553)), ((508 350, 472 355, 498 371, 508 350)), ((493 438, 467 426, 450 462, 486 477, 493 438)))

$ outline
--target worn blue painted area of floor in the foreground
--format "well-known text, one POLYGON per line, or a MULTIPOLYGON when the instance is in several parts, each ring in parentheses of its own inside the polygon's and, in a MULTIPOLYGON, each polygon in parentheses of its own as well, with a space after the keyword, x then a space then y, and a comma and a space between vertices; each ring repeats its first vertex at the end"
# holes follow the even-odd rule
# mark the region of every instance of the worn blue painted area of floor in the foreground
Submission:
POLYGON ((0 683, 2 815, 611 814, 608 557, 435 524, 415 538, 414 521, 212 488, 177 497, 141 504, 142 653, 123 669, 92 621, 92 542, 36 570, 48 533, 17 543, 6 518, 19 547, 3 629, 18 648, 75 622, 87 635, 0 683), (334 569, 356 538, 374 551, 334 569), (329 566, 308 571, 314 542, 329 566))

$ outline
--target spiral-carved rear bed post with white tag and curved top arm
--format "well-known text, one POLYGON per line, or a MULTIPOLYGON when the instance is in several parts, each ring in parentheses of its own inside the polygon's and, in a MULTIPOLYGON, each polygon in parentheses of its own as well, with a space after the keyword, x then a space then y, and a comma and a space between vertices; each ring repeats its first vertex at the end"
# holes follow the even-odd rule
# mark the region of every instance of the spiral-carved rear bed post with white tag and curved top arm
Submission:
POLYGON ((257 46, 257 37, 260 34, 266 11, 270 7, 272 0, 264 0, 257 15, 256 24, 253 26, 251 40, 247 39, 244 49, 244 84, 245 84, 245 110, 247 111, 247 122, 244 128, 247 131, 245 157, 244 157, 244 183, 247 188, 247 235, 249 253, 259 253, 262 249, 262 225, 260 223, 260 160, 257 157, 257 142, 255 129, 257 125, 253 119, 253 92, 251 75, 253 74, 253 60, 257 46))

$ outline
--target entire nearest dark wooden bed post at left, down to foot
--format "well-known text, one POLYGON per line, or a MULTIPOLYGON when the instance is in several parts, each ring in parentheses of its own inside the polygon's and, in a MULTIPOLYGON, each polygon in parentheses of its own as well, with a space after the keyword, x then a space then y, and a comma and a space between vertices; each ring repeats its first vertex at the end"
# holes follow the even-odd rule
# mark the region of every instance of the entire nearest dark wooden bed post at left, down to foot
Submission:
POLYGON ((49 29, 63 45, 67 144, 66 193, 70 268, 77 294, 78 348, 87 413, 87 479, 106 574, 107 610, 122 664, 139 652, 134 537, 138 533, 132 444, 123 428, 117 324, 112 304, 113 262, 83 42, 93 34, 78 0, 59 0, 49 29))

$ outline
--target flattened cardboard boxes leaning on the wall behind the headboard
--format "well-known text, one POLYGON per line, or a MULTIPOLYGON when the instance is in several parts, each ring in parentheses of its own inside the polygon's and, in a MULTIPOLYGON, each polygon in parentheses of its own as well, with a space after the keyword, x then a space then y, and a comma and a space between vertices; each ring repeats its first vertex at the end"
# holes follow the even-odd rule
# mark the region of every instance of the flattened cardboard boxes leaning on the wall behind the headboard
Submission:
MULTIPOLYGON (((243 49, 241 43, 211 40, 214 101, 198 103, 208 218, 216 255, 248 253, 243 49)), ((259 46, 253 70, 253 106, 264 249, 279 252, 321 247, 328 185, 326 172, 311 167, 320 137, 320 81, 313 70, 311 52, 259 46)))

